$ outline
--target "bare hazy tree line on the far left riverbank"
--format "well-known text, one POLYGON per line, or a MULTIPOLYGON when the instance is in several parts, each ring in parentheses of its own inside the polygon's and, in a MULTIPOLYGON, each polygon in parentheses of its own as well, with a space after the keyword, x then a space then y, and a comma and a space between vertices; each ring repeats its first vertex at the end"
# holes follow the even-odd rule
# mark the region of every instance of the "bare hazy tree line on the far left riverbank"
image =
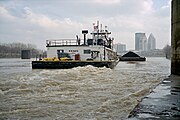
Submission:
POLYGON ((37 49, 33 44, 0 43, 0 58, 20 58, 22 50, 30 50, 32 58, 40 54, 46 56, 46 51, 37 49))

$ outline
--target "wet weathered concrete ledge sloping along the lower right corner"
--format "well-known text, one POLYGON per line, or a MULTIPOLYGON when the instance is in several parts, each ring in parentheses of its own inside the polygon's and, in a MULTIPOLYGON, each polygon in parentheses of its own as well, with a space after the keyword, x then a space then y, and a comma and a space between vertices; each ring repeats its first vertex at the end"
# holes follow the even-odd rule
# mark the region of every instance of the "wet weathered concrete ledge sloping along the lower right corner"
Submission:
POLYGON ((180 120, 180 76, 162 81, 130 113, 129 120, 180 120))

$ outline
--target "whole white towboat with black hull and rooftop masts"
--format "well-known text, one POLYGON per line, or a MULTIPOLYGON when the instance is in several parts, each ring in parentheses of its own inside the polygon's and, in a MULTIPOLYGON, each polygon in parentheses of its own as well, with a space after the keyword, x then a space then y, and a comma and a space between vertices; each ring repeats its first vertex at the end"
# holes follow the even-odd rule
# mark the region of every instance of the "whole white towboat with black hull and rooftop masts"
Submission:
POLYGON ((84 39, 78 36, 76 39, 47 40, 47 58, 32 61, 33 69, 66 69, 78 66, 92 65, 95 67, 114 68, 119 62, 117 53, 113 50, 113 38, 111 32, 99 29, 93 24, 91 38, 86 39, 88 30, 82 30, 84 39))

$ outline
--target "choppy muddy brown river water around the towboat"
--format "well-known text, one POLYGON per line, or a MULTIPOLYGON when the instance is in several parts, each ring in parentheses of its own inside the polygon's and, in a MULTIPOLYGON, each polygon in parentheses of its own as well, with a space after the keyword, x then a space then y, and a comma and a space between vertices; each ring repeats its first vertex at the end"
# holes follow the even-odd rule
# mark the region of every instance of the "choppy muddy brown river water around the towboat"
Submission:
POLYGON ((120 120, 170 75, 170 61, 119 62, 114 69, 31 69, 0 59, 0 119, 120 120))

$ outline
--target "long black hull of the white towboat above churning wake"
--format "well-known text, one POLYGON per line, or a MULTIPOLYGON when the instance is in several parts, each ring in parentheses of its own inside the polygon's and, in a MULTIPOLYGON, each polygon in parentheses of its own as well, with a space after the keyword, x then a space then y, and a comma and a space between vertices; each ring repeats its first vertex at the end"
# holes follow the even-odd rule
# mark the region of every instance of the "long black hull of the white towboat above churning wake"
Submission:
POLYGON ((33 69, 70 69, 79 66, 114 68, 119 61, 32 61, 33 69))

